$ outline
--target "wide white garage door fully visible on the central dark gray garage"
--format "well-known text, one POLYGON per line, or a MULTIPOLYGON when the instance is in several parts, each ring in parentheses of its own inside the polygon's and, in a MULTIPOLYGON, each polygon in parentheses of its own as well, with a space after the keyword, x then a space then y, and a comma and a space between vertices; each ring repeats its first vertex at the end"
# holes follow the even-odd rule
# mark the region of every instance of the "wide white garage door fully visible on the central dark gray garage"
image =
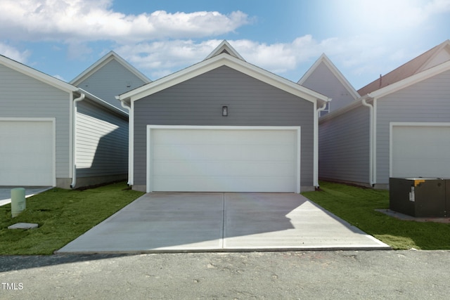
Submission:
POLYGON ((148 191, 300 193, 300 127, 149 129, 148 191))

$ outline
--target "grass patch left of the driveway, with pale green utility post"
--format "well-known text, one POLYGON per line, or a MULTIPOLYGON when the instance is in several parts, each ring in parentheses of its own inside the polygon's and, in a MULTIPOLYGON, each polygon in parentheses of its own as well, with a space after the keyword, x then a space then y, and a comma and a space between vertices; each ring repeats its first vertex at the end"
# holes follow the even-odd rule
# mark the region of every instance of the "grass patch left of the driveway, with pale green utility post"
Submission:
POLYGON ((11 218, 11 204, 4 205, 0 254, 53 254, 141 195, 126 183, 114 183, 88 190, 53 188, 27 198, 27 209, 15 218, 11 218), (39 228, 8 229, 15 223, 38 223, 39 228))

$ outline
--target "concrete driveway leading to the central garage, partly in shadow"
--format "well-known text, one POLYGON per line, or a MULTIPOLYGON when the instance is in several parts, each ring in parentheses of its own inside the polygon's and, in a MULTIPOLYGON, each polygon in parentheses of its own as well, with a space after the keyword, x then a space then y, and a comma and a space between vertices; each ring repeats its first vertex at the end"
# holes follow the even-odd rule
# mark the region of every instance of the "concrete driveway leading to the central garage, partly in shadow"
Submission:
POLYGON ((150 193, 57 253, 390 249, 298 194, 150 193))

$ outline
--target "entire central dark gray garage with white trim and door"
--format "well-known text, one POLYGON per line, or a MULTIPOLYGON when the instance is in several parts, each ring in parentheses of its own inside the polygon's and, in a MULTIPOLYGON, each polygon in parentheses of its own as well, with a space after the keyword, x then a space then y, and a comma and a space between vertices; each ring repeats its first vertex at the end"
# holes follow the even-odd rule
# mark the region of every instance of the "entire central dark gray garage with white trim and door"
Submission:
POLYGON ((318 186, 328 97, 245 62, 223 41, 205 60, 120 95, 134 190, 294 192, 318 186))

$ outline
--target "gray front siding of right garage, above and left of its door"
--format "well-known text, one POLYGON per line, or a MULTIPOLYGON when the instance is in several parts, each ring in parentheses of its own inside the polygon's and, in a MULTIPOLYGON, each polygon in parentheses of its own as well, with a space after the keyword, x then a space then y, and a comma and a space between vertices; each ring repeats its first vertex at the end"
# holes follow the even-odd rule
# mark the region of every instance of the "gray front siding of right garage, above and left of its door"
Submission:
POLYGON ((390 122, 450 122, 450 71, 377 100, 377 183, 389 183, 390 122))

